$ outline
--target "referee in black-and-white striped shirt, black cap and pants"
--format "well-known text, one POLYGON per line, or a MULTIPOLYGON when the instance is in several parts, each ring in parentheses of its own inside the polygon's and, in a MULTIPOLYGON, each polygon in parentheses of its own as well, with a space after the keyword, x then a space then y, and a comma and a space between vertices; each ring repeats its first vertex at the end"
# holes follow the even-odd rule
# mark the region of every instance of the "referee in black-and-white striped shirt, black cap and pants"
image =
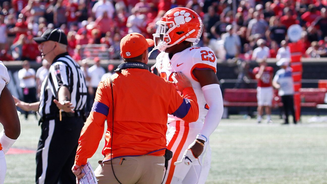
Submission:
POLYGON ((49 73, 42 83, 39 102, 15 101, 23 110, 38 110, 41 115, 36 183, 75 184, 71 168, 85 122, 87 87, 83 72, 68 55, 67 37, 60 29, 47 29, 34 40, 39 43, 42 59, 51 64, 49 73))

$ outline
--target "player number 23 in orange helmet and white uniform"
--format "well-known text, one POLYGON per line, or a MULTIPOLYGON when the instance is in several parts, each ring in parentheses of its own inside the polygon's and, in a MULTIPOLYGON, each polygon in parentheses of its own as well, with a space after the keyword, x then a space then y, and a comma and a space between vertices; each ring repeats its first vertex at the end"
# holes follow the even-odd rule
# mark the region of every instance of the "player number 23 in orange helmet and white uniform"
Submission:
POLYGON ((192 83, 199 105, 199 118, 195 122, 186 123, 168 115, 167 149, 174 155, 164 182, 204 183, 211 161, 209 136, 223 114, 219 80, 215 74, 217 59, 209 47, 193 46, 199 42, 203 26, 195 11, 173 8, 156 24, 154 49, 161 51, 155 64, 158 73, 168 81, 173 81, 176 72, 185 74, 192 83))

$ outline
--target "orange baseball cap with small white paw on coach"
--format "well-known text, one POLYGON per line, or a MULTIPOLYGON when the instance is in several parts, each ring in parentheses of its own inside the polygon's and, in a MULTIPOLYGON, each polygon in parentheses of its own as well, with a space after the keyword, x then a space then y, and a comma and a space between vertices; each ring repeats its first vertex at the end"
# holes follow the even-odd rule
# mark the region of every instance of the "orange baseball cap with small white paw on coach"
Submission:
POLYGON ((133 58, 143 54, 148 47, 153 45, 152 39, 146 39, 140 33, 129 33, 120 41, 120 55, 124 58, 133 58))

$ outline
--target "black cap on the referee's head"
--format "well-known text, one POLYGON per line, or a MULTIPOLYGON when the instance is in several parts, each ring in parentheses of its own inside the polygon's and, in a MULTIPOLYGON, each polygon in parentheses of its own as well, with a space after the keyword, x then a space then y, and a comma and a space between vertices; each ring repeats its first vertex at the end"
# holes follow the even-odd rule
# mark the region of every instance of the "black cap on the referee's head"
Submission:
POLYGON ((35 37, 33 40, 39 44, 46 41, 54 41, 60 44, 68 45, 67 36, 61 29, 47 29, 42 36, 35 37))

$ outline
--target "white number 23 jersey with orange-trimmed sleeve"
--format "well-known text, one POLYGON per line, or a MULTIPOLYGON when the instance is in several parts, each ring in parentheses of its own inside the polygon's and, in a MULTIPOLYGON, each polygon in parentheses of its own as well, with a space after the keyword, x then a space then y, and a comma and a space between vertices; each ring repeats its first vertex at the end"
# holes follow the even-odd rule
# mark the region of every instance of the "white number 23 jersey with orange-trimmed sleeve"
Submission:
MULTIPOLYGON (((160 76, 167 81, 172 81, 171 76, 175 72, 182 72, 192 83, 192 87, 197 96, 199 105, 199 118, 196 122, 203 123, 208 112, 208 105, 204 99, 202 88, 198 80, 193 74, 193 70, 197 69, 212 69, 216 73, 217 58, 214 51, 209 47, 189 47, 179 53, 173 55, 169 59, 168 53, 161 52, 157 56, 156 68, 160 76)), ((176 120, 181 120, 173 115, 168 115, 168 123, 176 120)))

